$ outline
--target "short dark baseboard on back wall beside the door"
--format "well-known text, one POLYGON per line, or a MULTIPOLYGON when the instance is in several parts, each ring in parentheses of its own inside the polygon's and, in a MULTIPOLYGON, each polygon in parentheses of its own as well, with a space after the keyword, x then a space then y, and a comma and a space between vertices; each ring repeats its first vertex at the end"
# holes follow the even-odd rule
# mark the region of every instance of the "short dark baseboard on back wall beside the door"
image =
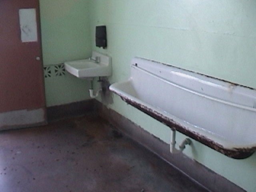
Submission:
POLYGON ((70 104, 51 106, 47 108, 47 120, 48 122, 51 122, 72 116, 93 114, 94 111, 93 99, 73 102, 70 104))

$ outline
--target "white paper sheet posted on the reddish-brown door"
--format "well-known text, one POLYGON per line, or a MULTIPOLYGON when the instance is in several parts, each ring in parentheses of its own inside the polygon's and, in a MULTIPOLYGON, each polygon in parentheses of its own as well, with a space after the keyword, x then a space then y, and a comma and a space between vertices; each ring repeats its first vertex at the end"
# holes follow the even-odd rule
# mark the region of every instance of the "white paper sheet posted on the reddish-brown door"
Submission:
POLYGON ((20 34, 22 42, 37 42, 36 9, 20 9, 20 34))

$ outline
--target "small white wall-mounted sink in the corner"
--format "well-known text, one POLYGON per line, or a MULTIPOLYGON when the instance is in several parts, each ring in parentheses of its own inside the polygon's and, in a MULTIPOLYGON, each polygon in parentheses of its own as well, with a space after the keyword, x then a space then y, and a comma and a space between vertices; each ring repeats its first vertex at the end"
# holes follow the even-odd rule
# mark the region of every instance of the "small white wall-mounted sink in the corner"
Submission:
POLYGON ((64 62, 65 70, 78 78, 91 78, 112 75, 112 61, 109 56, 92 52, 92 59, 64 62), (100 62, 96 62, 99 57, 100 62))

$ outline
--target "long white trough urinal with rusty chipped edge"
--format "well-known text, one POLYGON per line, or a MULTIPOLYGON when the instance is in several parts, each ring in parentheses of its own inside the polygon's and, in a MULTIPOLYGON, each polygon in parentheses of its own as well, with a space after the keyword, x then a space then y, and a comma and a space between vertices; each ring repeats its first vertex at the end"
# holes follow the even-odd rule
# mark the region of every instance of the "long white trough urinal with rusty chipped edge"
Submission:
POLYGON ((125 102, 231 158, 256 150, 256 90, 142 58, 110 86, 125 102))

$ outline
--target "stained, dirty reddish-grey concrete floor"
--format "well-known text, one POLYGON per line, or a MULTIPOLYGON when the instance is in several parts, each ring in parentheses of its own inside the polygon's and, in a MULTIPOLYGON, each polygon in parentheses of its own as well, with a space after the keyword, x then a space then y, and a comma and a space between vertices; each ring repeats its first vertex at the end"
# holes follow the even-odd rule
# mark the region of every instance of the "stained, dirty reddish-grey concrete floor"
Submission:
POLYGON ((0 192, 203 191, 98 117, 0 132, 0 192))

